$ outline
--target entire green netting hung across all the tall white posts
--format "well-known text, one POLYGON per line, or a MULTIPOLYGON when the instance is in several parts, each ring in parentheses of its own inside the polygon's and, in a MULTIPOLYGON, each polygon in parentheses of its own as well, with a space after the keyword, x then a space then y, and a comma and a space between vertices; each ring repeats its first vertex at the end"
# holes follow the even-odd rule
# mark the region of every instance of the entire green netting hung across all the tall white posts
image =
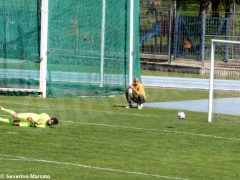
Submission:
MULTIPOLYGON (((119 94, 128 85, 129 0, 49 0, 48 96, 119 94)), ((140 76, 138 1, 134 72, 140 76)), ((40 0, 0 0, 1 88, 38 89, 40 0)))

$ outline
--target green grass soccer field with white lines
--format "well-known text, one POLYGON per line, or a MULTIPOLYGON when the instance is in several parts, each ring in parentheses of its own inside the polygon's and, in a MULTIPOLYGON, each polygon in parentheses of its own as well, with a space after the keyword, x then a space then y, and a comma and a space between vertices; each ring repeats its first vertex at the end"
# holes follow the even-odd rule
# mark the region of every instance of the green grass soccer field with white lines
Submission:
MULTIPOLYGON (((149 102, 206 99, 207 91, 146 89, 149 102), (197 94, 197 96, 196 96, 197 94)), ((0 179, 199 179, 240 177, 239 122, 207 122, 207 113, 125 109, 124 96, 0 96, 17 112, 58 117, 54 128, 0 124, 0 179), (19 178, 18 178, 19 179, 19 178), (36 178, 35 178, 36 179, 36 178)), ((6 114, 0 112, 0 117, 6 114)))

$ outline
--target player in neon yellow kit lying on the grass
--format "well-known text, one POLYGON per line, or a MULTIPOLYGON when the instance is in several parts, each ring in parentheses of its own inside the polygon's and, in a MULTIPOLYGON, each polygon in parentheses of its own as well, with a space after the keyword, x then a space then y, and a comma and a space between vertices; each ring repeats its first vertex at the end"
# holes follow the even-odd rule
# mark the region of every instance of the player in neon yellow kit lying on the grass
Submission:
POLYGON ((50 118, 46 113, 16 113, 11 109, 5 109, 1 106, 0 111, 6 112, 12 116, 9 119, 0 117, 0 122, 8 123, 13 126, 46 128, 58 124, 57 118, 50 118))

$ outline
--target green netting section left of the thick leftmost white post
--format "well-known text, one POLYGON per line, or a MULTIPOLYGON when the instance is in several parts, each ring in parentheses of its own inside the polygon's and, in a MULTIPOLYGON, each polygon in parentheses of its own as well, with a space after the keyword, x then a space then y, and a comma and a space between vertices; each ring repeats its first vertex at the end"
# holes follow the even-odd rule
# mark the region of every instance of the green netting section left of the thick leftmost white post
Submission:
POLYGON ((0 0, 0 88, 39 88, 38 1, 0 0))

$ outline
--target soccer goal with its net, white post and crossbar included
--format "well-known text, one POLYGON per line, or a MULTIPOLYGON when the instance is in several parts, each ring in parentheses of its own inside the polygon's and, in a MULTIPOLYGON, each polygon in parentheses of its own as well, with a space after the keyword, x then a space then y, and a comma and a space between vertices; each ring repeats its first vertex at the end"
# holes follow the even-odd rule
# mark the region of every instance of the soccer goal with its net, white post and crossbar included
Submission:
POLYGON ((240 41, 211 43, 208 122, 240 122, 240 41))

